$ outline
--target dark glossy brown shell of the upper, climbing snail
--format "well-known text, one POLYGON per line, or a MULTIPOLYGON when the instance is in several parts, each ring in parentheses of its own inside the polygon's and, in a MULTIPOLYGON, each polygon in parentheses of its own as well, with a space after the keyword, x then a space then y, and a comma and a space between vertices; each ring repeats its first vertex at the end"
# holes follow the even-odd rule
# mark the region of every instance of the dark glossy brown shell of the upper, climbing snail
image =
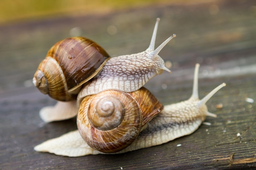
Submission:
POLYGON ((107 60, 108 53, 98 44, 83 37, 57 42, 39 64, 34 85, 44 94, 60 100, 76 98, 82 84, 92 79, 107 60))

